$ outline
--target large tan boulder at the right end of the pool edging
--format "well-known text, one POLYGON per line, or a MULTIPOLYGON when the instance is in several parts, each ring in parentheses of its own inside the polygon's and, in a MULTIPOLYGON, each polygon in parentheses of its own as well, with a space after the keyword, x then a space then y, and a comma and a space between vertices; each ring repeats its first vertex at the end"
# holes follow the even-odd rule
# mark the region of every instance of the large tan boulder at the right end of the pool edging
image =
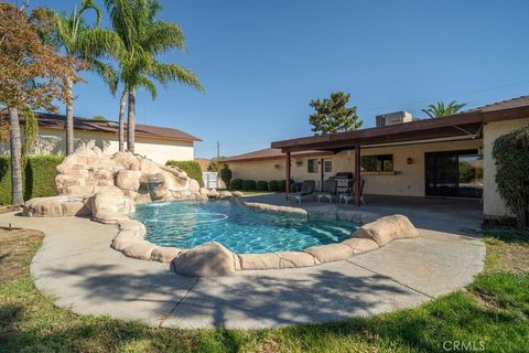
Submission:
POLYGON ((373 239, 382 246, 393 239, 417 237, 419 232, 407 216, 396 214, 363 225, 353 236, 373 239))

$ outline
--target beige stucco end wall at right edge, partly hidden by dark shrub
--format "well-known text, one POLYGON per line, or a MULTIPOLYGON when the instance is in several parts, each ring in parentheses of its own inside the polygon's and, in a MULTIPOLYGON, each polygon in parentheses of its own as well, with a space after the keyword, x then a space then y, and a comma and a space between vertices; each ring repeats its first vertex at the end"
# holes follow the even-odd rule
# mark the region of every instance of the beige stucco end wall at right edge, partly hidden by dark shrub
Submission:
POLYGON ((493 159, 493 145, 498 137, 527 125, 529 125, 529 118, 489 122, 483 129, 483 154, 485 159, 483 213, 485 216, 511 216, 498 194, 495 181, 496 165, 493 159))

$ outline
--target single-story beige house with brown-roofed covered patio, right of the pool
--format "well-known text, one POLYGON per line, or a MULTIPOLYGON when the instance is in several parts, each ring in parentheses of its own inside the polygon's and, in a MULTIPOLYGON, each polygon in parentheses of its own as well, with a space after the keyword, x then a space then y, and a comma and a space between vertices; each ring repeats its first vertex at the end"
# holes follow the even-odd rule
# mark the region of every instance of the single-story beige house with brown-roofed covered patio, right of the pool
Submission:
POLYGON ((450 117, 276 141, 224 161, 234 178, 290 176, 321 185, 337 172, 353 172, 366 181, 366 194, 483 199, 485 216, 507 216, 493 143, 527 125, 529 96, 521 96, 450 117))

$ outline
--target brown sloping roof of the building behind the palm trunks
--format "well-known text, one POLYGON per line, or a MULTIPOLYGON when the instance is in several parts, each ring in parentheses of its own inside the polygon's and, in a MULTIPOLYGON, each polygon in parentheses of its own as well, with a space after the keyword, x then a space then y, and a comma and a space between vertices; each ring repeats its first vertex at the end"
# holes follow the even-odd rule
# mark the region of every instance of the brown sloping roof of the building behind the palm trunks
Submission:
MULTIPOLYGON (((66 117, 64 115, 36 113, 39 127, 50 129, 64 129, 66 117)), ((24 124, 21 119, 21 124, 24 124)), ((94 120, 80 117, 74 117, 74 129, 82 131, 94 131, 105 133, 119 133, 119 125, 110 120, 94 120)), ((125 135, 127 136, 127 124, 125 125, 125 135)), ((163 128, 152 125, 136 124, 137 137, 149 137, 164 140, 177 141, 202 141, 199 138, 174 128, 163 128)))

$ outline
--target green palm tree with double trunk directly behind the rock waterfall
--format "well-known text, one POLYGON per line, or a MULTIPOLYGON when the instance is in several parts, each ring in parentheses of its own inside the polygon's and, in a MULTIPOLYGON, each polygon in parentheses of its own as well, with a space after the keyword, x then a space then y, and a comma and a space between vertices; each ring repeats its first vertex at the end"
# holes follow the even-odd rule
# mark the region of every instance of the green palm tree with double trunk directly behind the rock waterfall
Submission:
MULTIPOLYGON (((110 21, 122 42, 123 52, 118 58, 119 81, 123 84, 120 99, 120 139, 123 136, 125 105, 127 111, 127 149, 134 152, 136 92, 145 88, 156 97, 153 81, 164 87, 170 82, 190 85, 199 92, 198 78, 177 64, 161 63, 156 56, 171 50, 185 51, 184 35, 172 22, 156 20, 162 9, 158 0, 105 0, 110 21)), ((120 143, 122 146, 122 143, 120 143)))

